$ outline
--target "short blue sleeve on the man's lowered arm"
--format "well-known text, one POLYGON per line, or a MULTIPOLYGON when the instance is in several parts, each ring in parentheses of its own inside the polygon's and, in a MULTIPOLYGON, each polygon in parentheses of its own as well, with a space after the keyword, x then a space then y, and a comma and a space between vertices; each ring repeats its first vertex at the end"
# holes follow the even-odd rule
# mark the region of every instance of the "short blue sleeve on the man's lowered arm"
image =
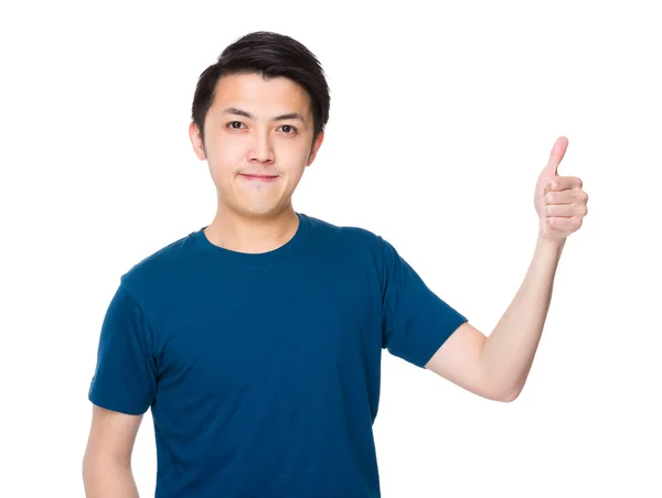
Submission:
POLYGON ((142 310, 120 284, 102 325, 89 401, 131 415, 145 413, 157 388, 150 344, 151 329, 142 310))

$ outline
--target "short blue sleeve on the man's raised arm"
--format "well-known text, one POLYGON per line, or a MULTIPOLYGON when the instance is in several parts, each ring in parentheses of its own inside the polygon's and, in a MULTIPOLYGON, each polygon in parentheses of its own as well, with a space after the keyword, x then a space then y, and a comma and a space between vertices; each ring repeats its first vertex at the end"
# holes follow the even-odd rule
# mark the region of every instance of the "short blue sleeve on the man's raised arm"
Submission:
POLYGON ((437 296, 395 248, 382 243, 382 347, 425 365, 467 317, 437 296))

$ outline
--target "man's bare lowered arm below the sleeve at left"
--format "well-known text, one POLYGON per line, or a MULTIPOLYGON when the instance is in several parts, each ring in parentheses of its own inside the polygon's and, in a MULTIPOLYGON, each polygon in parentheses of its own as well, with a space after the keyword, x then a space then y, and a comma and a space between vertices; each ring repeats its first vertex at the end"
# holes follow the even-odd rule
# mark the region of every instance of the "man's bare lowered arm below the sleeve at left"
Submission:
POLYGON ((131 453, 142 415, 93 405, 92 427, 83 458, 87 498, 138 498, 131 453))

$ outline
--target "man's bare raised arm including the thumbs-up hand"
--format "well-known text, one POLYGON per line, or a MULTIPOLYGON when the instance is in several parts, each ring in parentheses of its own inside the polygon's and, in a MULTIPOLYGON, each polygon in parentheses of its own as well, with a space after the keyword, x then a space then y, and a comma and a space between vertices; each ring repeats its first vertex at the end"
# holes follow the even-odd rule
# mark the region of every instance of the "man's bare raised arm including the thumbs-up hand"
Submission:
POLYGON ((576 176, 558 176, 568 141, 559 137, 538 176, 534 206, 538 238, 524 282, 496 327, 485 337, 462 324, 433 356, 426 368, 500 401, 522 391, 549 310, 554 277, 567 237, 581 227, 588 195, 576 176))

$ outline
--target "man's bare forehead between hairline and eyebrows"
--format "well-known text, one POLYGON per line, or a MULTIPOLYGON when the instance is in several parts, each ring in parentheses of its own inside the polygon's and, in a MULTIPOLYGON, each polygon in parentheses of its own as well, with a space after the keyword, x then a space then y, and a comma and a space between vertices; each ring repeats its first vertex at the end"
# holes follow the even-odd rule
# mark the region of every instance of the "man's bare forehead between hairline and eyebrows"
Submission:
POLYGON ((306 115, 310 110, 310 98, 303 87, 286 77, 264 79, 258 74, 233 74, 218 80, 212 104, 216 109, 227 106, 249 108, 258 116, 263 110, 306 115))

